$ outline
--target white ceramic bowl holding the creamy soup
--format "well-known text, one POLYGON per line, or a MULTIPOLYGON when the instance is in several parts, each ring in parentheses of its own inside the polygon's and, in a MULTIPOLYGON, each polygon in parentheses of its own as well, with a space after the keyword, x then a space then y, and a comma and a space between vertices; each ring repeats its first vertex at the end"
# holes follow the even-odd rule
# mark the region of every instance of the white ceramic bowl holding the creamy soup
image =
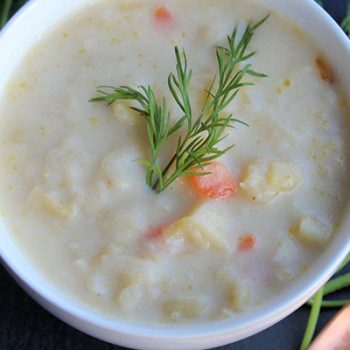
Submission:
MULTIPOLYGON (((98 0, 32 0, 0 35, 0 93, 26 51, 49 28, 98 0)), ((242 0, 244 1, 244 0, 242 0)), ((350 42, 314 0, 261 0, 280 11, 308 33, 328 56, 350 97, 350 42)), ((218 1, 219 4, 219 1, 218 1)), ((350 137, 350 136, 349 136, 350 137)), ((6 227, 0 223, 0 255, 18 283, 42 306, 79 330, 111 343, 138 349, 204 349, 257 333, 301 306, 335 272, 350 250, 350 208, 338 233, 314 266, 281 295, 239 320, 197 326, 135 325, 94 314, 50 285, 21 255, 6 227)))

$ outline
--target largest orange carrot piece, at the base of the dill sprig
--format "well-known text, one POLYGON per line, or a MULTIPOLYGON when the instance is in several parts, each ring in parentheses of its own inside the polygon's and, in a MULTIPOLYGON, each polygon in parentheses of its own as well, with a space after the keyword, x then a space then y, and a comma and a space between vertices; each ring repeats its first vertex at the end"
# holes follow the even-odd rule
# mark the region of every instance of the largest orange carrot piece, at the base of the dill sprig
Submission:
POLYGON ((237 192, 237 180, 220 162, 206 164, 203 169, 196 169, 193 174, 208 172, 203 176, 189 176, 189 182, 203 197, 210 199, 225 199, 237 192))

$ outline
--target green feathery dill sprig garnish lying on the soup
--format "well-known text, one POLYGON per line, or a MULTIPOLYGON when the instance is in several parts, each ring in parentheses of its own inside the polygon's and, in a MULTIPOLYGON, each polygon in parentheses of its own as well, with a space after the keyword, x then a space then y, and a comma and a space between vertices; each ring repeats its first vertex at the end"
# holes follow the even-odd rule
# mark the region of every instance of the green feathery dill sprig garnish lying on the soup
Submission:
POLYGON ((249 51, 248 45, 254 32, 266 20, 264 17, 257 23, 249 23, 242 36, 238 39, 238 27, 227 37, 228 46, 216 48, 218 74, 210 83, 207 98, 199 116, 193 115, 189 97, 192 70, 188 68, 186 52, 175 47, 176 73, 170 73, 168 87, 172 97, 182 111, 179 120, 171 125, 171 115, 167 110, 165 98, 158 103, 150 86, 140 86, 137 89, 120 86, 104 86, 98 88, 101 96, 90 101, 104 101, 109 104, 115 101, 131 100, 137 111, 146 121, 147 137, 150 146, 150 159, 141 162, 146 166, 146 183, 156 192, 162 192, 180 176, 202 176, 207 172, 204 166, 210 161, 221 157, 233 145, 219 149, 218 144, 225 138, 224 131, 233 128, 235 123, 244 122, 224 112, 225 108, 237 96, 243 86, 254 85, 245 81, 247 76, 262 78, 264 74, 252 69, 251 64, 244 63, 255 51, 249 51), (243 67, 242 67, 243 66, 243 67), (162 145, 170 135, 181 130, 177 146, 168 163, 162 167, 159 164, 159 154, 162 145))

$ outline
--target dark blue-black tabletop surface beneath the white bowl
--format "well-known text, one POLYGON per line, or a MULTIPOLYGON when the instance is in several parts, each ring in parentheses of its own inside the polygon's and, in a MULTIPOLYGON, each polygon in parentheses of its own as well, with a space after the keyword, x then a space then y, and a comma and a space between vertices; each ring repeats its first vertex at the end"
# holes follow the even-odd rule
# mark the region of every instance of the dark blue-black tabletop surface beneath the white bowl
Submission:
MULTIPOLYGON (((2 1, 4 0, 0 0, 0 3, 2 1)), ((346 12, 347 0, 324 0, 323 3, 326 10, 338 22, 341 21, 346 12)), ((350 266, 346 270, 350 272, 350 266)), ((335 297, 350 298, 350 290, 335 297)), ((299 348, 308 315, 309 308, 303 306, 268 330, 216 350, 296 350, 299 348)), ((317 331, 333 315, 334 311, 322 311, 317 331)), ((0 350, 32 349, 125 350, 89 337, 49 314, 27 296, 0 265, 0 350)))

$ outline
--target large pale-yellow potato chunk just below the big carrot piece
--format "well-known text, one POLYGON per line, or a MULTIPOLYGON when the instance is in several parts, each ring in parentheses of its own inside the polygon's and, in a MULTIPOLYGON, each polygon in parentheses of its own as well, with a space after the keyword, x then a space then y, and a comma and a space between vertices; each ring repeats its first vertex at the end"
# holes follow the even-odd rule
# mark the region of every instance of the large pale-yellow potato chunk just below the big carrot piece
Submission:
POLYGON ((230 247, 228 225, 224 217, 205 205, 170 225, 164 231, 164 236, 183 236, 199 249, 215 248, 228 251, 230 247))

